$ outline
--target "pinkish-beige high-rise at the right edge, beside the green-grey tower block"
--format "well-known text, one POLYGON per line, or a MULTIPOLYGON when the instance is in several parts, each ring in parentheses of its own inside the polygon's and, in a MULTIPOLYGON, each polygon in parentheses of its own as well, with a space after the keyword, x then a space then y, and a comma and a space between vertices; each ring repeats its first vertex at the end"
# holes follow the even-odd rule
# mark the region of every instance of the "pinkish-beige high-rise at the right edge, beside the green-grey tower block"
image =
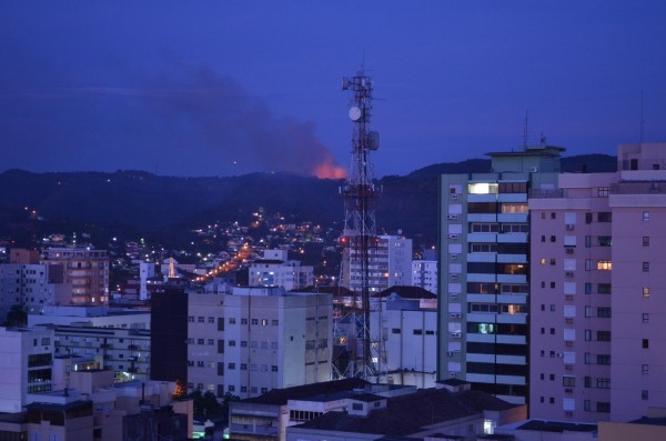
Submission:
POLYGON ((666 143, 533 191, 531 415, 629 421, 666 407, 666 143))

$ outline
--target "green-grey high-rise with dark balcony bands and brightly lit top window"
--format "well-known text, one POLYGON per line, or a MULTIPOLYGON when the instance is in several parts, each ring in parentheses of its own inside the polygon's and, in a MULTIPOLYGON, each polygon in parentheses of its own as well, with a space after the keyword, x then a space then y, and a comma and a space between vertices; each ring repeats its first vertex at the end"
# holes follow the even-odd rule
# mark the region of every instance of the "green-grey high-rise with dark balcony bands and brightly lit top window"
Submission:
POLYGON ((529 379, 529 189, 554 190, 563 148, 488 153, 492 173, 441 177, 440 380, 516 404, 529 379))

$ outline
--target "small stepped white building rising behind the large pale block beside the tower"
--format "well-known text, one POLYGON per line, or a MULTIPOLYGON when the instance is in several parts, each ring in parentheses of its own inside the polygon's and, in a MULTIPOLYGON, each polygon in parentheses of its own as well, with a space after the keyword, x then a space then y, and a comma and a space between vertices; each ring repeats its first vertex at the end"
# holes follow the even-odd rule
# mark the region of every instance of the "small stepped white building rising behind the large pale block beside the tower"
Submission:
POLYGON ((250 287, 283 287, 286 291, 314 285, 313 267, 289 260, 286 250, 264 250, 263 259, 250 264, 250 287))

